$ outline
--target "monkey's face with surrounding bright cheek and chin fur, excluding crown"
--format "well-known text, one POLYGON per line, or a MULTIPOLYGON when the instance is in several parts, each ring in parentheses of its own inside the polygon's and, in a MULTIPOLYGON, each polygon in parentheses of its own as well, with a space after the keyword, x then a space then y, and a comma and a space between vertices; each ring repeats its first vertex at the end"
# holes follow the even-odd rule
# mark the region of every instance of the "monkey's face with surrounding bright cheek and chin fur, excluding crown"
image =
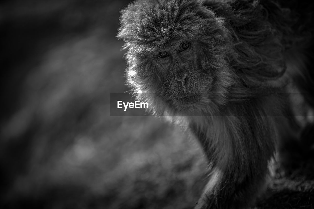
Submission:
POLYGON ((213 114, 202 111, 208 111, 208 105, 215 111, 223 104, 226 90, 221 81, 230 74, 224 60, 213 66, 209 58, 214 56, 201 45, 184 37, 145 52, 130 49, 127 84, 158 115, 165 110, 173 115, 213 114))

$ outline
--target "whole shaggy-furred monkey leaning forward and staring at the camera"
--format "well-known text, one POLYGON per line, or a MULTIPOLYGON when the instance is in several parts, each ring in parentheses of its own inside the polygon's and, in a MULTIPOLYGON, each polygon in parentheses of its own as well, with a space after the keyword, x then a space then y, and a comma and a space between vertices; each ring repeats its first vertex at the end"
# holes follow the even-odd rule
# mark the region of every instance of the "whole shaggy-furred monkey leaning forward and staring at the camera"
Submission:
POLYGON ((126 84, 150 114, 195 135, 208 161, 195 209, 254 206, 280 140, 298 137, 289 92, 313 101, 310 11, 276 0, 137 0, 122 10, 126 84))

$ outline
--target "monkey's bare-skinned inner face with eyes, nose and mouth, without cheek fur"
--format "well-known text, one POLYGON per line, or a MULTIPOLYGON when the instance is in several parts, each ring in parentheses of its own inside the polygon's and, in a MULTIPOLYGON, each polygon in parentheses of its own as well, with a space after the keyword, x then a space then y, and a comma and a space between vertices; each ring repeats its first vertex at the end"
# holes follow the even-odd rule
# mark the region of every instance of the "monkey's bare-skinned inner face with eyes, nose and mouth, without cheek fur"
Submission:
POLYGON ((209 69, 197 63, 194 43, 173 41, 171 46, 156 55, 156 70, 163 77, 159 83, 160 96, 176 109, 189 109, 197 105, 213 81, 209 69))

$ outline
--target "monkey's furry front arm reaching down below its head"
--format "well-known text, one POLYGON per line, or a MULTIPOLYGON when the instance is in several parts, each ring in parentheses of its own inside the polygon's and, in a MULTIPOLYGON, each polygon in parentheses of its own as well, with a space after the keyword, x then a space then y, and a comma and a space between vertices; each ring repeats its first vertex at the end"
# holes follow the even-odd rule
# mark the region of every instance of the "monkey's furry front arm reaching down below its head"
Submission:
POLYGON ((208 129, 196 120, 191 124, 210 164, 208 183, 195 209, 246 208, 265 189, 268 163, 276 150, 276 126, 265 110, 267 102, 230 104, 225 113, 231 116, 202 118, 208 129))

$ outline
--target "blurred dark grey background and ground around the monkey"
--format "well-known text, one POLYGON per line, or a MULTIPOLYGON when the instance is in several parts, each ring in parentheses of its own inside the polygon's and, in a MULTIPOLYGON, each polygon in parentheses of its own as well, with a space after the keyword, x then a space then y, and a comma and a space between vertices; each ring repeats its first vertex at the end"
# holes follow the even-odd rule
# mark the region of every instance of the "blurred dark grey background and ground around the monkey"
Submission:
MULTIPOLYGON (((192 136, 150 116, 110 116, 110 93, 129 90, 115 38, 129 2, 1 1, 1 208, 197 202, 206 162, 192 136)), ((299 151, 298 172, 277 175, 260 208, 311 208, 314 177, 300 160, 312 153, 299 151)))

